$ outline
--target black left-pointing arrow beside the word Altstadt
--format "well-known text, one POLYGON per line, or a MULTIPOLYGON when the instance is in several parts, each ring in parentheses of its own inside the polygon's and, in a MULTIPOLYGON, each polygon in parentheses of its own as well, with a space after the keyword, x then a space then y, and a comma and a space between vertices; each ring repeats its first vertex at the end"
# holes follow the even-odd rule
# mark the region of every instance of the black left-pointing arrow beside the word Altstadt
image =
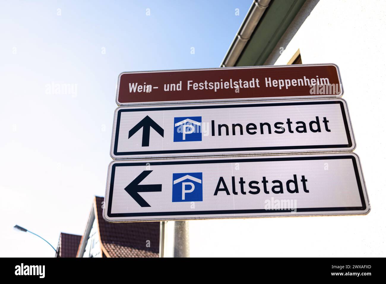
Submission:
POLYGON ((126 192, 133 197, 133 199, 141 205, 141 207, 151 207, 149 203, 143 199, 138 192, 159 192, 162 191, 162 184, 145 184, 139 185, 139 183, 144 180, 151 171, 143 171, 138 177, 136 177, 132 182, 130 182, 127 187, 125 187, 126 192))

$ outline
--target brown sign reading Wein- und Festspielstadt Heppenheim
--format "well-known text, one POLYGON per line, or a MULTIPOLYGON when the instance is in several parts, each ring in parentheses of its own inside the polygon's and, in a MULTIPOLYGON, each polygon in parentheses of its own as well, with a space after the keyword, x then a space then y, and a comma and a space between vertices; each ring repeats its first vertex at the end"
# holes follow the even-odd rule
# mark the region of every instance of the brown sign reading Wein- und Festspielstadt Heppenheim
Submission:
POLYGON ((341 97, 335 64, 275 65, 124 72, 118 105, 258 99, 341 97))

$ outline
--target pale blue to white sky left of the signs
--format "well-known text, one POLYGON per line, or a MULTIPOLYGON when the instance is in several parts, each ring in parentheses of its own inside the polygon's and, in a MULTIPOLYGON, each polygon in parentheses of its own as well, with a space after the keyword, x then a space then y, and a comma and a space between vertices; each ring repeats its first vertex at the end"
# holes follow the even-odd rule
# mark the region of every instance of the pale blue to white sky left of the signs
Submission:
POLYGON ((251 2, 0 3, 1 257, 54 255, 14 224, 54 247, 83 233, 105 192, 119 73, 218 67, 251 2))

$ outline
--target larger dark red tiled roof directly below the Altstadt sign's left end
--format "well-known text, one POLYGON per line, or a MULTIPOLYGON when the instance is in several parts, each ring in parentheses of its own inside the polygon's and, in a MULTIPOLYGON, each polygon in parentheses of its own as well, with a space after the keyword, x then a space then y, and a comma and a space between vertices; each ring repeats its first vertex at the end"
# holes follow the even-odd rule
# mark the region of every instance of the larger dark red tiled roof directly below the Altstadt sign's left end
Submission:
POLYGON ((159 222, 108 223, 103 197, 95 197, 102 245, 110 257, 158 257, 159 222))

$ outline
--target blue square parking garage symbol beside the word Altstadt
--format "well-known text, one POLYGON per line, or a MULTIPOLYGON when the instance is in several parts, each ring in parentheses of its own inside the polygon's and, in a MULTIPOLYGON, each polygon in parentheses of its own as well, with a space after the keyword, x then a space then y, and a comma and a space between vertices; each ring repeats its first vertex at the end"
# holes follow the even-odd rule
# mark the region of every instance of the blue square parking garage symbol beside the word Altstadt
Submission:
POLYGON ((172 202, 202 201, 202 173, 173 173, 172 202))

